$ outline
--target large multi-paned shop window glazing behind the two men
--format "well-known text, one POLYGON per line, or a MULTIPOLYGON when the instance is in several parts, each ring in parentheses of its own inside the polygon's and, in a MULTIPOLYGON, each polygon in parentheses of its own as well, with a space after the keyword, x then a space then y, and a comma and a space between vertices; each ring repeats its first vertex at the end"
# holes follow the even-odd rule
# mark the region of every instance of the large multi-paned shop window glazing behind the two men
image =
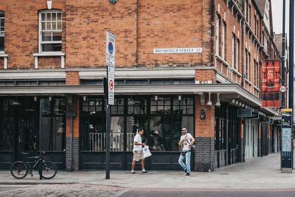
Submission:
MULTIPOLYGON (((81 150, 105 151, 106 113, 99 112, 106 105, 103 105, 104 99, 89 97, 84 101, 81 97, 80 100, 81 150)), ((151 151, 179 151, 181 127, 186 127, 194 136, 194 98, 121 96, 111 105, 110 121, 111 151, 132 151, 139 128, 144 129, 142 142, 147 143, 151 151)))

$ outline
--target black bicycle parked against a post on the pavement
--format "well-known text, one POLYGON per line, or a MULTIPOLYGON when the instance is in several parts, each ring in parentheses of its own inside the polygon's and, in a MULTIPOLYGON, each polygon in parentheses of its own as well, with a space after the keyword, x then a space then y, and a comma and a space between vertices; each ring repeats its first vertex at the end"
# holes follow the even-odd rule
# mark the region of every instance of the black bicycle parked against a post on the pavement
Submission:
MULTIPOLYGON (((43 154, 45 154, 44 151, 42 151, 43 154)), ((56 164, 54 164, 53 162, 49 162, 47 161, 47 159, 45 157, 43 157, 43 154, 40 156, 36 156, 36 157, 28 157, 27 158, 27 154, 29 153, 23 153, 23 155, 25 155, 25 160, 23 162, 21 161, 17 161, 15 163, 13 163, 10 167, 10 173, 11 175, 16 178, 16 179, 23 179, 27 176, 27 174, 31 174, 31 177, 33 176, 33 169, 34 167, 39 163, 42 162, 42 178, 44 179, 52 179, 53 177, 55 177, 55 175, 58 172, 58 168, 56 166, 56 164), (34 165, 31 167, 29 165, 28 160, 29 159, 35 159, 35 163, 34 165), (27 162, 27 164, 26 164, 27 162), (28 167, 29 166, 29 167, 28 167)), ((40 165, 38 167, 38 172, 40 174, 40 165)))

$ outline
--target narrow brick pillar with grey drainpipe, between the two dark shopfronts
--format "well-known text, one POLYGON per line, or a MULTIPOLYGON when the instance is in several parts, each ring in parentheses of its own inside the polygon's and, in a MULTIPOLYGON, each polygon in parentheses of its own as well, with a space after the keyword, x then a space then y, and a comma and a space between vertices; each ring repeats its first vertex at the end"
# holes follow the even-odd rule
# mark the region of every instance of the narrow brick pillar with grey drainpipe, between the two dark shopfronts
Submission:
MULTIPOLYGON (((66 72, 66 85, 79 85, 79 72, 66 72)), ((79 170, 79 97, 76 97, 76 117, 73 118, 72 125, 72 170, 79 170)), ((74 107, 69 107, 68 112, 74 112, 74 107)), ((70 167, 70 117, 66 117, 66 148, 65 148, 65 168, 69 170, 70 167)))

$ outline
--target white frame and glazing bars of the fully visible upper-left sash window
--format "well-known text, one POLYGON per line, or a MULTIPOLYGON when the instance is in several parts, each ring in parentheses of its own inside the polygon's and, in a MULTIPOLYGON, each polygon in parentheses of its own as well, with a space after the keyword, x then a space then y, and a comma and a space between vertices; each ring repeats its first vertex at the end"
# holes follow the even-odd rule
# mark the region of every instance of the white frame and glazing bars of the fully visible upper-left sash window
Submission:
MULTIPOLYGON (((41 10, 39 11, 38 13, 38 16, 39 16, 39 53, 50 53, 50 54, 59 54, 62 52, 62 48, 60 51, 42 51, 42 44, 61 44, 62 45, 62 12, 61 10, 59 9, 51 9, 51 10, 41 10), (45 30, 45 32, 50 32, 50 33, 53 33, 53 32, 57 32, 57 33, 61 33, 61 40, 60 41, 42 41, 42 32, 44 32, 44 30, 42 30, 42 14, 44 13, 60 13, 61 14, 61 30, 52 30, 52 27, 51 27, 51 30, 48 31, 48 30, 45 30)), ((46 20, 47 21, 47 20, 46 20)), ((59 22, 58 20, 56 22, 59 22)), ((51 19, 51 24, 52 24, 52 19, 51 19)), ((52 25, 51 25, 52 26, 52 25)))

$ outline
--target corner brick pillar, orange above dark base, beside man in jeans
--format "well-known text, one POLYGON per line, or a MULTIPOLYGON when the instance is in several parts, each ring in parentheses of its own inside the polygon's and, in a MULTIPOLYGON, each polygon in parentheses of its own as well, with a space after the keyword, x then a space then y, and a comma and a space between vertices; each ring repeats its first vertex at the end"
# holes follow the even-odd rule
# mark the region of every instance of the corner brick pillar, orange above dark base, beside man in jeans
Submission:
POLYGON ((201 105, 200 96, 195 98, 195 171, 207 172, 214 164, 214 106, 201 105), (206 109, 206 120, 200 118, 201 109, 206 109))

